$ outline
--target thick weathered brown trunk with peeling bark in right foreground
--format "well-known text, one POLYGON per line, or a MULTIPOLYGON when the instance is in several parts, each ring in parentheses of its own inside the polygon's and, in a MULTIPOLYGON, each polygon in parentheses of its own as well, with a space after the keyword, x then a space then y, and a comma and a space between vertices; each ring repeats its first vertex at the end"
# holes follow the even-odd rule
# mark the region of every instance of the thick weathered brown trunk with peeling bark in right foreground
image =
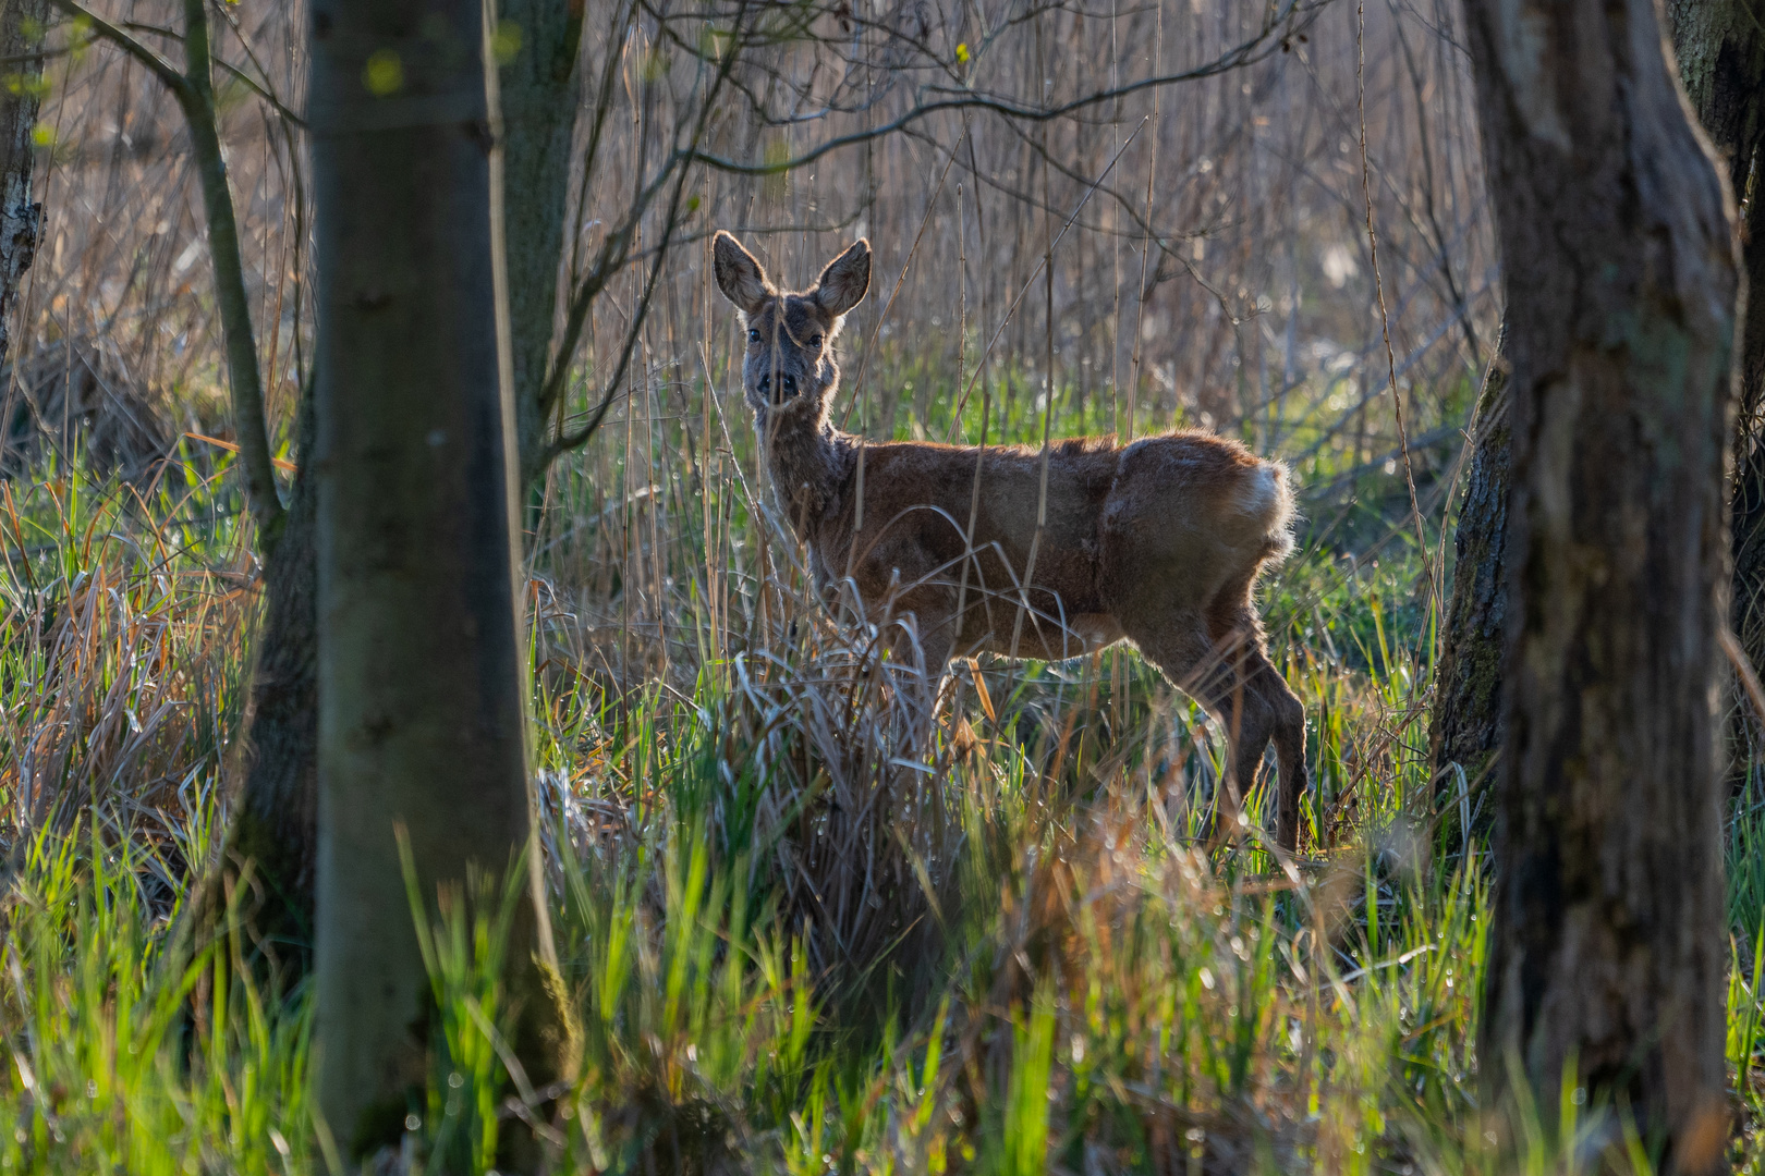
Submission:
POLYGON ((1714 1171, 1731 208, 1654 0, 1467 0, 1513 361, 1507 748, 1479 1056, 1714 1171))

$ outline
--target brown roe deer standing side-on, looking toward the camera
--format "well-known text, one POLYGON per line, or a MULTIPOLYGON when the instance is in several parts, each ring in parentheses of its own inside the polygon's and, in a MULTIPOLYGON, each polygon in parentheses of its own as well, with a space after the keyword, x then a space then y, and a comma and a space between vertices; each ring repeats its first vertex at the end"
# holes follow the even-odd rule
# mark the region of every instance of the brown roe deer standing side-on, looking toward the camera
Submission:
POLYGON ((934 679, 951 656, 1057 661, 1131 640, 1225 726, 1234 806, 1274 741, 1276 841, 1294 850, 1304 707, 1251 599, 1294 545, 1287 469, 1198 430, 1047 451, 867 443, 835 428, 830 407, 833 340, 870 287, 870 243, 803 293, 773 286, 729 233, 711 252, 748 333, 741 386, 773 487, 817 585, 854 591, 872 617, 911 614, 934 679))

